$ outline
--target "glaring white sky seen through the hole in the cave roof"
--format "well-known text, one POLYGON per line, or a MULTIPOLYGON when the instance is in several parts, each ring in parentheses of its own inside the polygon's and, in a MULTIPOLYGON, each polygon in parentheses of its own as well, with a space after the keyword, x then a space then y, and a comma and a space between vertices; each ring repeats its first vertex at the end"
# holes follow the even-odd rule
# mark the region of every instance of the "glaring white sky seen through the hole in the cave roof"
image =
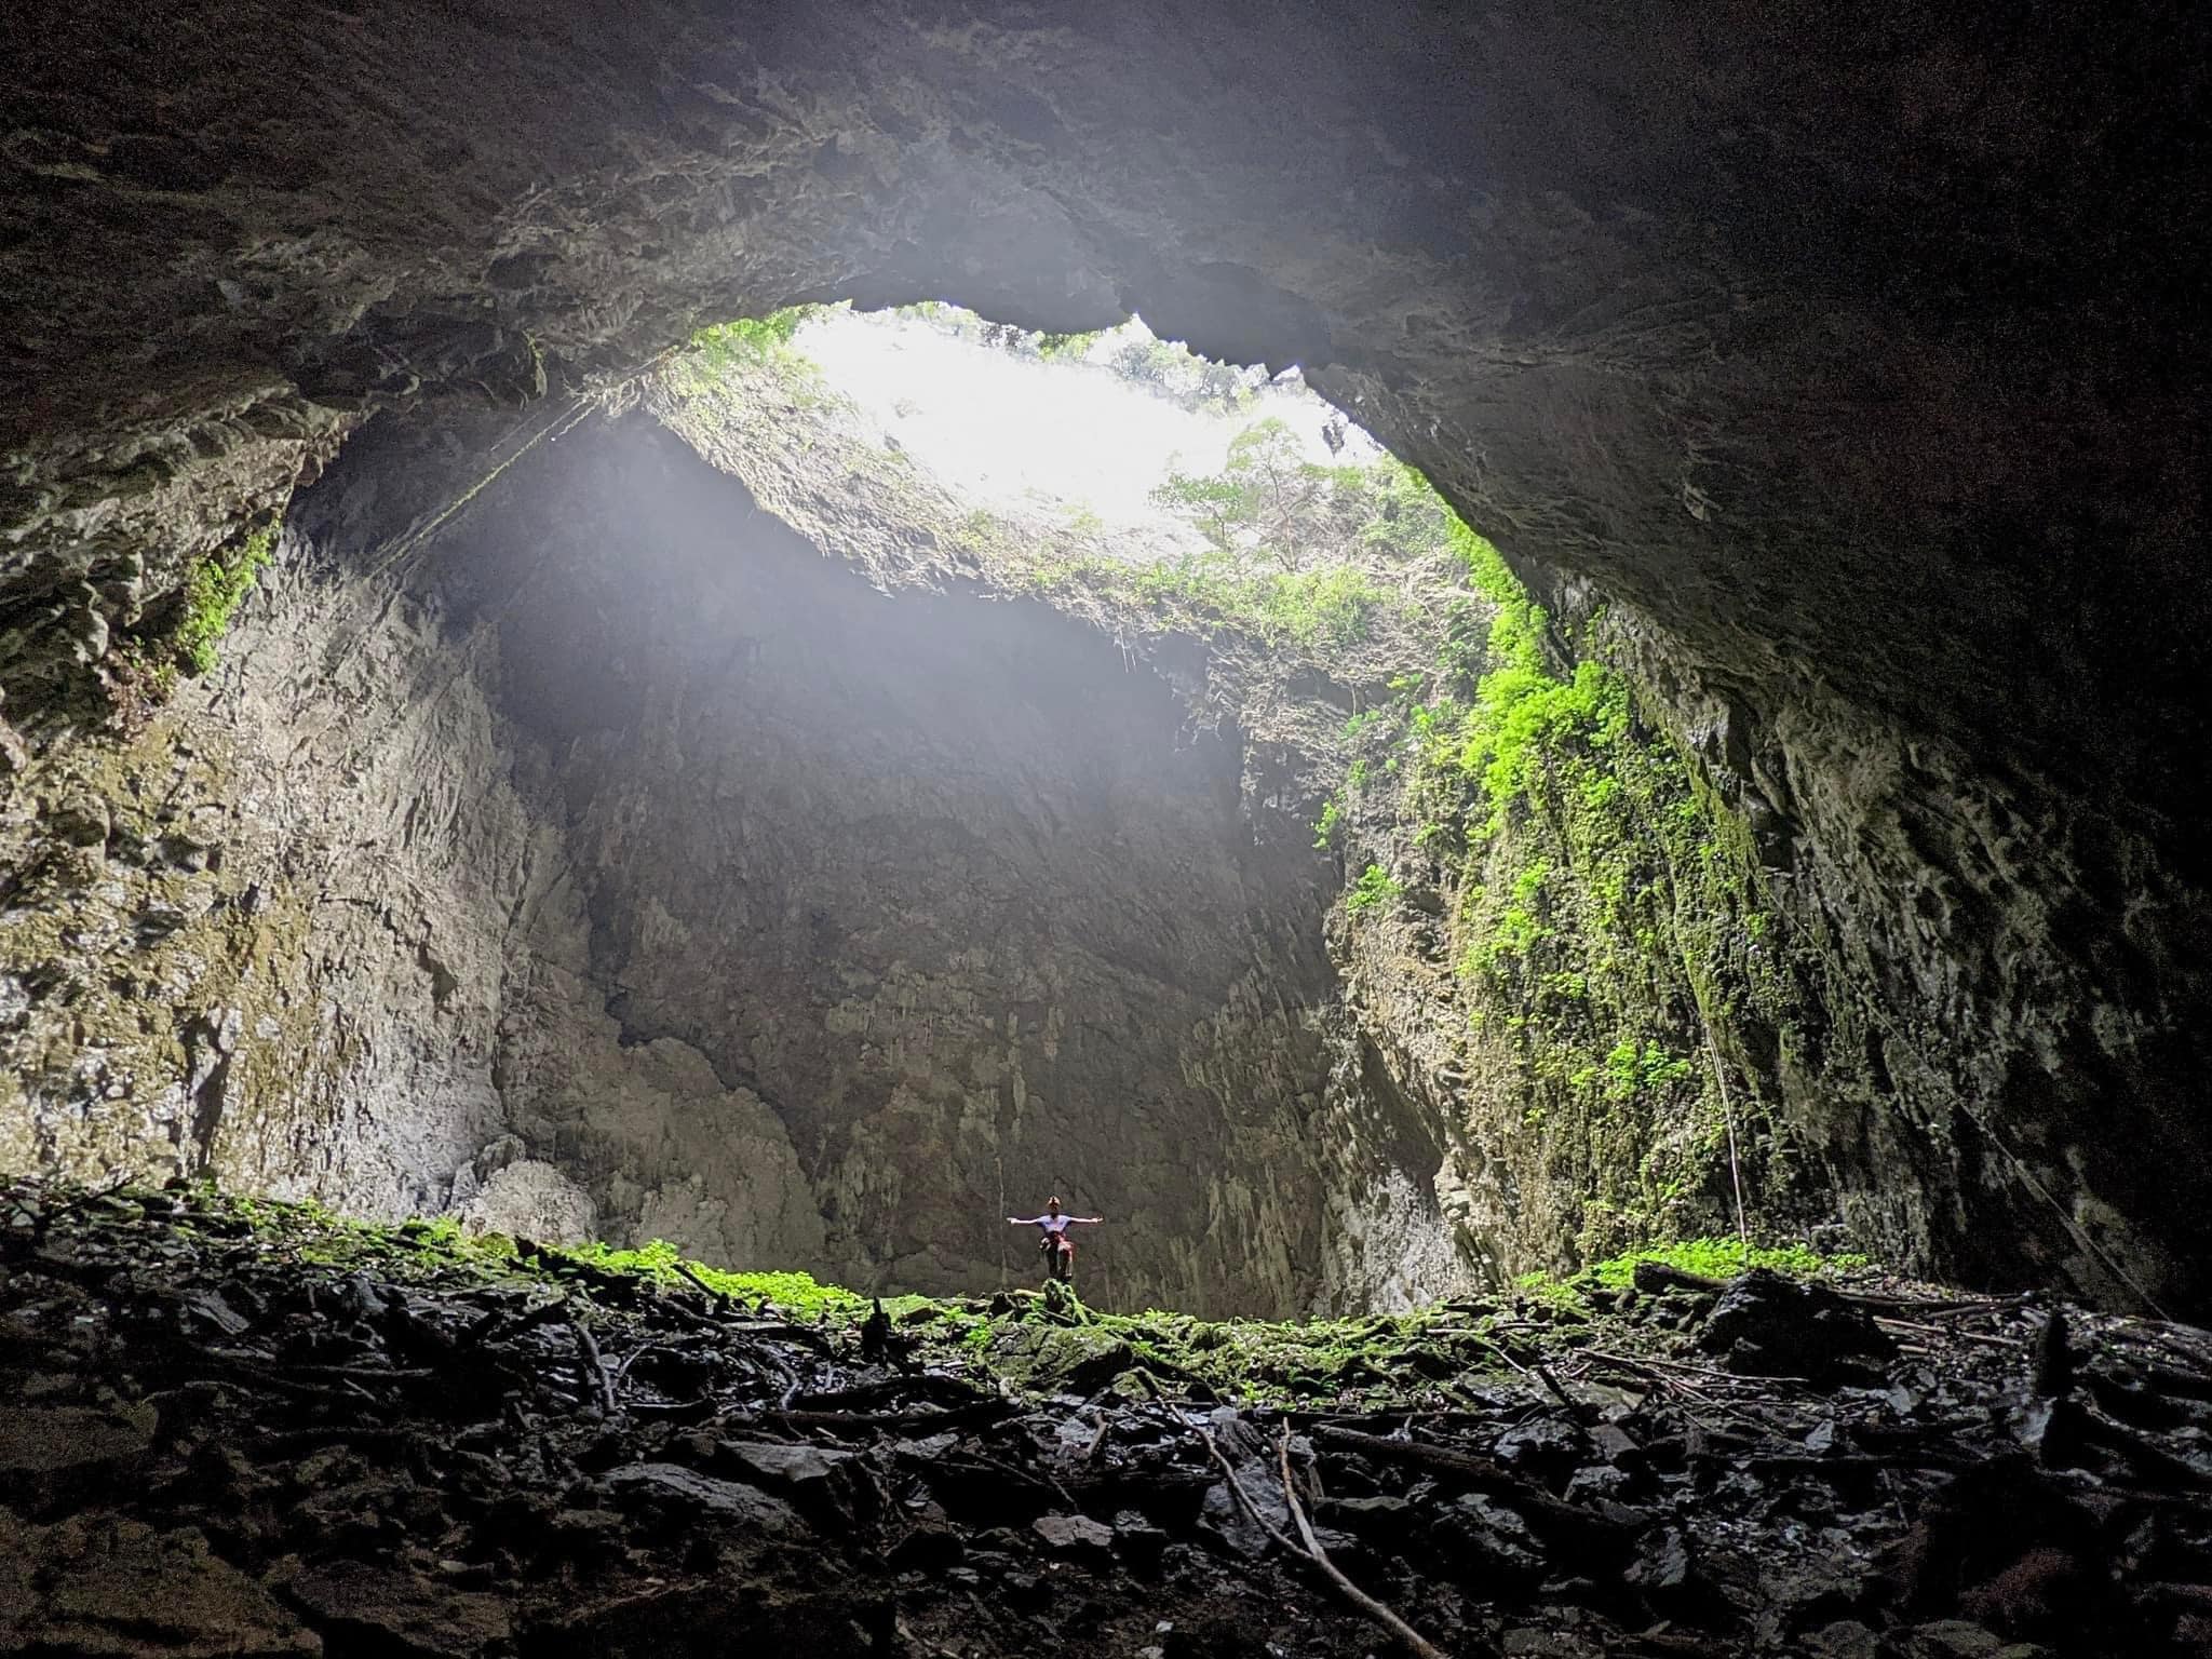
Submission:
MULTIPOLYGON (((1097 347, 1150 341, 1130 321, 1097 347)), ((949 489, 1002 513, 1088 507, 1106 526, 1161 533, 1168 520, 1148 500, 1170 465, 1221 471, 1230 438, 1279 416, 1314 460, 1334 409, 1290 374, 1234 416, 1192 414, 1095 363, 1040 363, 958 338, 918 316, 832 310, 799 327, 792 345, 821 365, 843 396, 898 438, 949 489)), ((1352 429, 1338 460, 1380 449, 1352 429)), ((1186 531, 1192 542, 1194 531, 1186 531)))

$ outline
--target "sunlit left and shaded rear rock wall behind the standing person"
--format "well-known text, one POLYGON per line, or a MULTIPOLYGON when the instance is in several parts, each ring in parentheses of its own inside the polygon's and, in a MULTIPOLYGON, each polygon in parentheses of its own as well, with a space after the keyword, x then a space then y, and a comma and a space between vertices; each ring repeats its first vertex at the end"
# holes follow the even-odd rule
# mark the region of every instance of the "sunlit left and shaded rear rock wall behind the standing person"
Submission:
MULTIPOLYGON (((226 670, 111 759, 199 763, 192 849, 64 847, 113 779, 71 818, 40 774, 9 1161, 898 1290, 1026 1281, 1002 1217, 1060 1192, 1110 1219, 1102 1301, 1460 1283, 1436 1148, 1340 1062, 1329 872, 1254 845, 1234 728, 1044 606, 887 599, 646 418, 420 546, 372 529, 411 442, 301 498, 226 670), (157 900, 197 920, 148 945, 157 900)), ((407 462, 425 498, 484 465, 407 462)))

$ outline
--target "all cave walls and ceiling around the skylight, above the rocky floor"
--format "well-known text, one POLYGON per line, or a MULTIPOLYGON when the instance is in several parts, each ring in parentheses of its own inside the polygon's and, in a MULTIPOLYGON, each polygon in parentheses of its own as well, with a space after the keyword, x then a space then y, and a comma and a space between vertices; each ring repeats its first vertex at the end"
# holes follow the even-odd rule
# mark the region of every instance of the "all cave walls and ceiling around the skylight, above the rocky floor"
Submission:
POLYGON ((9 1179, 894 1298, 1026 1283, 1002 1217, 1068 1192, 1130 1314, 1739 1230, 2205 1314, 2194 11, 15 33, 9 1179), (1413 469, 1663 772, 1626 894, 1606 779, 1451 858, 1360 814, 1480 664, 1133 630, 684 396, 732 319, 936 301, 1294 367, 1413 469))

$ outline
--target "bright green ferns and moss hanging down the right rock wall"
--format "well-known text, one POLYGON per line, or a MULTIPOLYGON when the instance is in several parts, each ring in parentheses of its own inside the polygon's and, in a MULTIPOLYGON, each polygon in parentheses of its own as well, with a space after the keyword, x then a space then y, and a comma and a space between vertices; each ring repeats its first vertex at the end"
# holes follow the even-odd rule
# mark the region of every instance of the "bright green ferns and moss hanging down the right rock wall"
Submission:
MULTIPOLYGON (((1571 1259, 1732 1223, 1730 1110, 1754 1210, 1763 1197, 1783 1223, 1750 1055, 1794 1042, 1809 993, 1767 929, 1747 836, 1639 721, 1597 657, 1601 622, 1555 668, 1551 619, 1498 551, 1458 520, 1449 540, 1469 599, 1440 659, 1347 726, 1398 790, 1367 812, 1349 790, 1332 830, 1387 814, 1413 852, 1398 874, 1425 865, 1444 891, 1475 1091, 1513 1126, 1517 1179, 1566 1194, 1571 1259)), ((1369 863, 1345 905, 1396 896, 1369 863)))

